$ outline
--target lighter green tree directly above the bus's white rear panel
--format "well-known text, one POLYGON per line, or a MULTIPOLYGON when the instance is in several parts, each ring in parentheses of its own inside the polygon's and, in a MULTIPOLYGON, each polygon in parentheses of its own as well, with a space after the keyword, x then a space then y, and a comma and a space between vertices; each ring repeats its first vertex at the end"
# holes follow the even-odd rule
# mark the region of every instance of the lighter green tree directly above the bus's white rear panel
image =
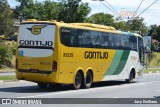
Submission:
POLYGON ((52 20, 58 19, 58 4, 56 2, 44 1, 30 3, 23 9, 25 19, 52 20))

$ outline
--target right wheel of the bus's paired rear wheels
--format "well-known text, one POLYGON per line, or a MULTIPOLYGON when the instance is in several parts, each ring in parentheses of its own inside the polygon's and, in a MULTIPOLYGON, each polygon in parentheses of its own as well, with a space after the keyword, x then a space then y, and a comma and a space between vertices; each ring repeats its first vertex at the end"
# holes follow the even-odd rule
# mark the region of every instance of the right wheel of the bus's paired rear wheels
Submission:
POLYGON ((91 72, 87 72, 86 78, 84 78, 83 87, 90 88, 93 82, 93 76, 91 72))

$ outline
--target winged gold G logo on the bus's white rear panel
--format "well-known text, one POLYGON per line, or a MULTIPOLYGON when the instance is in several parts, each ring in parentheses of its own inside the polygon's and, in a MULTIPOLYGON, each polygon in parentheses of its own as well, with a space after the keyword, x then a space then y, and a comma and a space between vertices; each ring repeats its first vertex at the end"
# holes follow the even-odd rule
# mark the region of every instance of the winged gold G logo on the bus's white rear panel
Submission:
POLYGON ((31 31, 32 34, 39 35, 39 34, 41 34, 41 30, 45 27, 46 27, 46 25, 45 26, 44 25, 35 25, 35 26, 32 26, 32 28, 27 28, 27 29, 29 31, 31 31))

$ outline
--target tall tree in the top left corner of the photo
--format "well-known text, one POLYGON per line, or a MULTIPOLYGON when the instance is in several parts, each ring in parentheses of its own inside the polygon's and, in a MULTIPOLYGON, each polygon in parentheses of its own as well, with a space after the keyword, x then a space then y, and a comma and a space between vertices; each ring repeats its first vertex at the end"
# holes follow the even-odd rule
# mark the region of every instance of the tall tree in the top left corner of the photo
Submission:
POLYGON ((13 33, 13 23, 13 10, 10 9, 7 0, 0 0, 0 35, 13 33))

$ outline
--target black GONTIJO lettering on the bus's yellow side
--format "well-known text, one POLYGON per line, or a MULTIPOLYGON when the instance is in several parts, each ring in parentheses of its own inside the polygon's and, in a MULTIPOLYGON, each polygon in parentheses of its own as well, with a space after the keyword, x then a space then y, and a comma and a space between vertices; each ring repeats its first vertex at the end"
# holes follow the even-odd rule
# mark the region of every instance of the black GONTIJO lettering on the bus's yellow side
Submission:
POLYGON ((92 51, 86 51, 84 53, 85 59, 107 59, 108 58, 108 52, 92 52, 92 51))

